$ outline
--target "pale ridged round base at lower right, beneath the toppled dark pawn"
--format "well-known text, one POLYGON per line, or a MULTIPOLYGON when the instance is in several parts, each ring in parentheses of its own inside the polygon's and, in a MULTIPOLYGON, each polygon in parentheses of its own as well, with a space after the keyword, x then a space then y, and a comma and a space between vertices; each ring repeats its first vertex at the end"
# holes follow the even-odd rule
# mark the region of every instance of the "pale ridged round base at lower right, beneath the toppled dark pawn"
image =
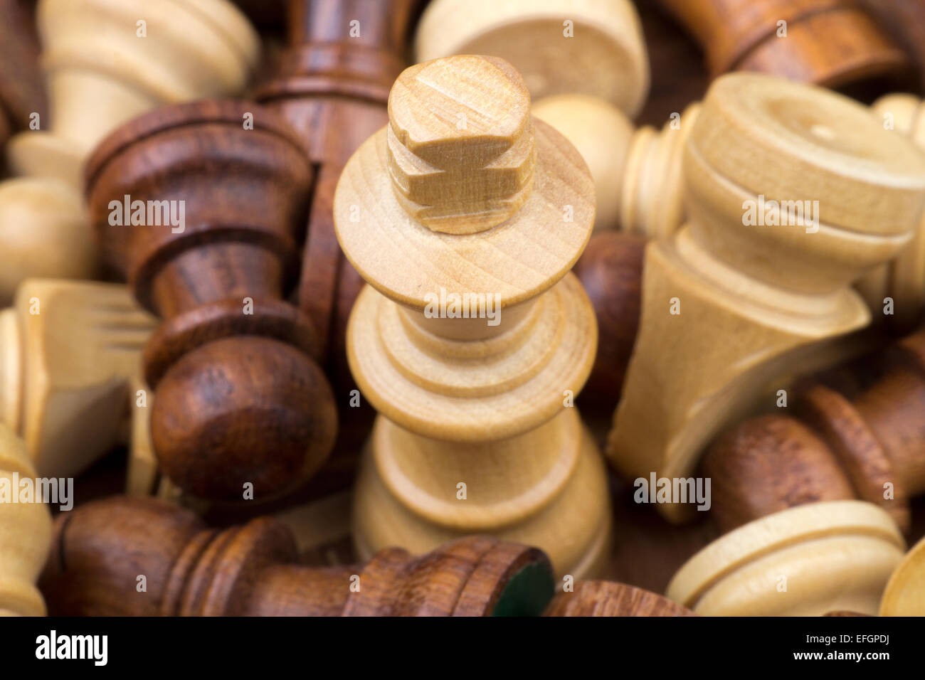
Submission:
POLYGON ((876 614, 905 549, 876 505, 810 503, 713 541, 677 571, 665 595, 704 616, 876 614))

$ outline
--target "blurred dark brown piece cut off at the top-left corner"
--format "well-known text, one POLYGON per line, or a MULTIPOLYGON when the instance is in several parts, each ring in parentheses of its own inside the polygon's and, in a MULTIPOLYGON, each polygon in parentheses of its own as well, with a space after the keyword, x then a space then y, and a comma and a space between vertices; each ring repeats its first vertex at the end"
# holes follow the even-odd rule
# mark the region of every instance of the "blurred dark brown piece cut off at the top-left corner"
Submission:
POLYGON ((24 0, 0 0, 0 146, 45 114, 34 9, 24 0))

